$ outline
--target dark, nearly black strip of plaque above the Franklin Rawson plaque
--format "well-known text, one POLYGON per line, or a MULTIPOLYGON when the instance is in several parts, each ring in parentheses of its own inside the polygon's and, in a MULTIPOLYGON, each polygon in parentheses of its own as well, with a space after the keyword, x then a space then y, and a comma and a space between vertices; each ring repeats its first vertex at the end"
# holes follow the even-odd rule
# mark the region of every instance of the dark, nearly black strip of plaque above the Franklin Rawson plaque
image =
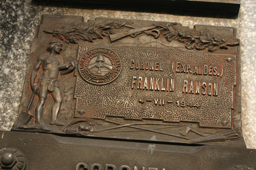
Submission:
POLYGON ((240 3, 221 3, 207 1, 117 1, 117 0, 32 0, 32 5, 47 7, 66 7, 93 10, 117 10, 150 12, 155 14, 172 14, 183 16, 203 16, 208 18, 237 19, 240 3), (154 8, 152 8, 154 7, 154 8))

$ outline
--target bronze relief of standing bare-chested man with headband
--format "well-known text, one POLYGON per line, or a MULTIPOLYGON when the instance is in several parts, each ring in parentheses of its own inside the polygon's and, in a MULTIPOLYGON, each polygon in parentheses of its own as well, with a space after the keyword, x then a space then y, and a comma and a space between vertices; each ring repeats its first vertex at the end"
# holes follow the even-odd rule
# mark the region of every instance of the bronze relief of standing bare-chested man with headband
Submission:
POLYGON ((63 122, 57 120, 62 101, 58 77, 59 73, 61 73, 61 75, 71 73, 75 70, 76 66, 75 61, 64 65, 63 57, 59 56, 62 50, 63 44, 61 41, 52 40, 49 42, 49 46, 47 48, 49 53, 38 57, 34 69, 31 72, 30 86, 33 92, 38 93, 39 98, 38 105, 35 109, 35 126, 38 128, 46 128, 42 122, 42 114, 48 94, 52 95, 54 101, 51 109, 51 121, 49 124, 64 126, 63 122), (42 80, 39 84, 35 84, 35 79, 40 66, 42 66, 43 69, 43 73, 40 76, 40 79, 42 80), (63 68, 66 70, 63 70, 63 68), (60 70, 63 71, 60 72, 60 70))

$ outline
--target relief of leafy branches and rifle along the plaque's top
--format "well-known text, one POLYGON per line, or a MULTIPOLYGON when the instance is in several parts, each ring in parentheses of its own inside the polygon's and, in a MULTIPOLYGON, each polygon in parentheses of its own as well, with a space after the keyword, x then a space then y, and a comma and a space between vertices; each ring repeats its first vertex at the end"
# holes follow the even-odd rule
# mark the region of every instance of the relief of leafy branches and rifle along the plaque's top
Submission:
POLYGON ((228 42, 222 36, 216 33, 210 32, 208 29, 204 29, 200 32, 181 32, 177 31, 174 27, 177 23, 168 23, 166 25, 151 25, 149 27, 134 28, 131 26, 133 22, 120 21, 114 22, 112 20, 106 20, 102 24, 88 23, 88 25, 81 25, 80 23, 74 22, 67 24, 60 29, 53 29, 53 31, 44 31, 45 33, 52 34, 53 37, 78 44, 79 40, 90 41, 96 39, 103 39, 105 36, 110 36, 110 41, 117 41, 127 36, 136 37, 141 33, 146 35, 154 36, 155 39, 158 37, 165 36, 167 41, 172 40, 179 41, 185 44, 187 49, 203 50, 208 49, 209 52, 214 52, 217 49, 228 49, 228 46, 240 45, 239 42, 228 42), (117 33, 115 29, 131 28, 128 32, 117 33), (115 39, 111 40, 111 35, 115 36, 115 39), (118 37, 118 38, 116 38, 118 37))

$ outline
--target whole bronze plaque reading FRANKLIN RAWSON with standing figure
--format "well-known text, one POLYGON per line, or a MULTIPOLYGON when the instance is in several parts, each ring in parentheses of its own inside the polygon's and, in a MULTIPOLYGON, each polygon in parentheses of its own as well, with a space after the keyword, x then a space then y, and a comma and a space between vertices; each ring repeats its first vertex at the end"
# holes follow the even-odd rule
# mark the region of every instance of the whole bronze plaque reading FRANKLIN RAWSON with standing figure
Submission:
POLYGON ((244 147, 236 28, 43 15, 13 130, 244 147))

